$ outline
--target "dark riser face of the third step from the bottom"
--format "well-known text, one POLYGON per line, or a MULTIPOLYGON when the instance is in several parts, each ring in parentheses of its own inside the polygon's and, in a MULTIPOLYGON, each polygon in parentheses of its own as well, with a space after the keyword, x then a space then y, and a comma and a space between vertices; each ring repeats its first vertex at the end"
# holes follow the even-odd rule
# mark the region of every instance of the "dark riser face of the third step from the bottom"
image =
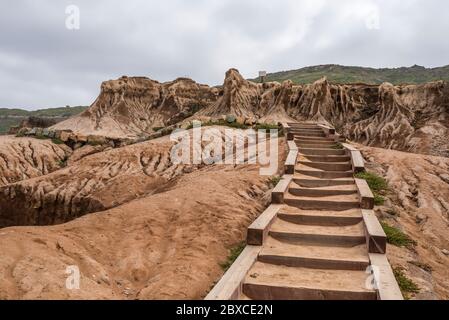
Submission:
POLYGON ((365 236, 301 234, 277 231, 270 231, 270 236, 278 241, 318 246, 354 247, 366 243, 365 236))

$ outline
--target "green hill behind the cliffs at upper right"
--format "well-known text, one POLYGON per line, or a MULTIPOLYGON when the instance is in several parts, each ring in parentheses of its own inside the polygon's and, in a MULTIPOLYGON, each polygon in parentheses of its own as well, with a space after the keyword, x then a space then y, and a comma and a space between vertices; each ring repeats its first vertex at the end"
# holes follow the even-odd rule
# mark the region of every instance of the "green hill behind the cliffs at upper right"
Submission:
MULTIPOLYGON (((421 66, 403 68, 364 68, 346 67, 340 65, 320 65, 306 67, 298 70, 281 71, 269 73, 266 81, 283 82, 292 80, 297 84, 313 83, 326 76, 333 83, 367 83, 381 84, 390 82, 392 84, 420 84, 435 80, 449 81, 449 65, 439 68, 425 68, 421 66)), ((253 79, 260 82, 260 79, 253 79)))

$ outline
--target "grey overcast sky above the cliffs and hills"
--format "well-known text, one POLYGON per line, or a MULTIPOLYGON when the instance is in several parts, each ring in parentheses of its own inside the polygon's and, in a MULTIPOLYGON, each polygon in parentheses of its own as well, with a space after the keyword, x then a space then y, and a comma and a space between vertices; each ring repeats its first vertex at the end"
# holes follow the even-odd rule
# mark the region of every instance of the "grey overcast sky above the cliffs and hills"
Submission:
POLYGON ((90 105, 122 75, 215 85, 231 67, 443 66, 448 14, 447 0, 2 1, 0 107, 90 105))

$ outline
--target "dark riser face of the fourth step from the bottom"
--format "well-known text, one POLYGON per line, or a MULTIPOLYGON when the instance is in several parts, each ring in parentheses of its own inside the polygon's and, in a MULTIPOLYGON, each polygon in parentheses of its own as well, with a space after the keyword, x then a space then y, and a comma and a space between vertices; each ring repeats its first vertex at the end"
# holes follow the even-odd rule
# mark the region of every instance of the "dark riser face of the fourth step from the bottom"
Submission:
POLYGON ((278 218, 294 224, 323 227, 353 226, 362 221, 362 217, 308 216, 282 213, 278 214, 278 218))

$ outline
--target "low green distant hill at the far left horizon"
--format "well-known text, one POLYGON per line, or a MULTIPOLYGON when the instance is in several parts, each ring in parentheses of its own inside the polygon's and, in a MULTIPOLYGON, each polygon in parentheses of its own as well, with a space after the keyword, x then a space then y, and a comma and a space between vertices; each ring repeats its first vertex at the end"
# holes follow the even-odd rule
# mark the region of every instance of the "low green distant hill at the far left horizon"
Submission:
POLYGON ((83 112, 87 108, 88 107, 77 106, 49 108, 35 111, 0 108, 0 134, 7 133, 10 127, 19 125, 28 117, 58 118, 62 121, 83 112))

